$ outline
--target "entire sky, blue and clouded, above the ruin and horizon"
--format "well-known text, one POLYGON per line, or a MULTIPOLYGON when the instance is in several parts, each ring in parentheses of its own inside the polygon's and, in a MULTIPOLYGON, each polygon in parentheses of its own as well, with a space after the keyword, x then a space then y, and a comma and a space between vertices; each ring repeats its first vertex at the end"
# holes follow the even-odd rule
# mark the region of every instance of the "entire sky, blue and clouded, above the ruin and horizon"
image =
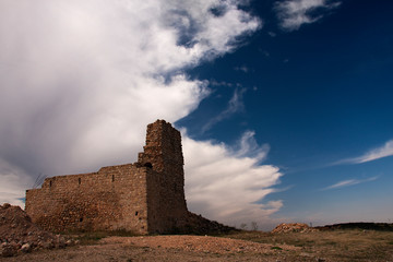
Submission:
POLYGON ((0 201, 182 131, 191 211, 393 221, 393 3, 0 2, 0 201))

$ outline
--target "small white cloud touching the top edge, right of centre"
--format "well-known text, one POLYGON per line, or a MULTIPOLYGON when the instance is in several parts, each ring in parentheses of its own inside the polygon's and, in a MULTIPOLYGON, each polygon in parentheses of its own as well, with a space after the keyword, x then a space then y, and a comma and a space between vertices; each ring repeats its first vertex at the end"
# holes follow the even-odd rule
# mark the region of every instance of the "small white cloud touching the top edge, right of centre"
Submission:
POLYGON ((323 17, 319 10, 332 10, 341 2, 329 0, 286 0, 275 3, 279 25, 285 31, 299 29, 303 24, 314 23, 323 17))

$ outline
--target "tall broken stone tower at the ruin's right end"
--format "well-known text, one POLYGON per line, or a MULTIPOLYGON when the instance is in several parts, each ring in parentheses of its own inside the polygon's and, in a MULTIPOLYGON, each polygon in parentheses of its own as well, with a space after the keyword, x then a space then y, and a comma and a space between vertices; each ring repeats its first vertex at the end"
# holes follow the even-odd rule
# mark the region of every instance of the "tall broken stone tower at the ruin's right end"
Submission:
POLYGON ((146 145, 138 163, 156 171, 147 183, 151 228, 153 225, 181 227, 188 211, 180 132, 164 120, 148 124, 146 145))

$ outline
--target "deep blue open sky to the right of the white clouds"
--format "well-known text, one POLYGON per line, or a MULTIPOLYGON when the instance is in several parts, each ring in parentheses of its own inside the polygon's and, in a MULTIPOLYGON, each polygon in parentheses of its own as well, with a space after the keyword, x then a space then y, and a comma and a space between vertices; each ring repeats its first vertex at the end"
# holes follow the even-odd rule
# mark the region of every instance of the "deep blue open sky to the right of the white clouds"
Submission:
POLYGON ((342 1, 288 32, 272 9, 266 12, 274 2, 251 4, 266 21, 248 45, 192 71, 223 84, 178 123, 195 139, 234 143, 242 130, 253 130, 258 142, 267 143, 264 163, 285 174, 283 191, 266 198, 284 200, 277 217, 393 221, 392 156, 345 162, 392 140, 393 5, 342 1), (201 129, 239 91, 238 110, 201 129))

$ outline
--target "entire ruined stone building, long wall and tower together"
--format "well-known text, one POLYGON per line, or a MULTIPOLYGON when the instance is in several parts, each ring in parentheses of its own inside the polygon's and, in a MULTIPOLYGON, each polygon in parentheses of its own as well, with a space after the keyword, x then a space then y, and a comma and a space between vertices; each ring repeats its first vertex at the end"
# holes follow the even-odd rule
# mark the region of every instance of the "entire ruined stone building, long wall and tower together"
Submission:
POLYGON ((147 126, 134 164, 45 179, 26 191, 26 213, 51 231, 127 230, 136 234, 228 229, 187 210, 181 135, 164 120, 147 126))

